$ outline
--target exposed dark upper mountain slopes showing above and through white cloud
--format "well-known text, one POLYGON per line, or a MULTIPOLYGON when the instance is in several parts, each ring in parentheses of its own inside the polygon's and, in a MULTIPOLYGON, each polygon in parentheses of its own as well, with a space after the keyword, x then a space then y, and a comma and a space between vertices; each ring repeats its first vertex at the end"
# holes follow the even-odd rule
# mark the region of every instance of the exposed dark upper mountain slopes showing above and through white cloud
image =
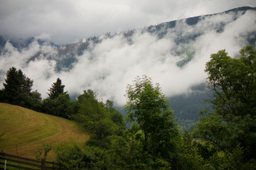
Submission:
MULTIPOLYGON (((187 26, 191 26, 191 28, 193 28, 201 21, 206 21, 210 17, 221 16, 221 15, 231 15, 232 18, 230 18, 230 21, 220 21, 216 23, 209 23, 211 30, 214 30, 217 33, 222 33, 225 26, 228 23, 242 17, 243 15, 245 15, 247 11, 256 11, 256 8, 243 6, 240 8, 233 8, 222 13, 215 13, 215 14, 210 14, 206 16, 196 16, 196 17, 185 18, 177 21, 169 21, 166 23, 160 23, 156 26, 149 26, 142 29, 137 29, 137 30, 134 29, 134 30, 128 30, 122 33, 115 33, 114 35, 111 35, 111 33, 107 33, 99 37, 97 36, 90 37, 90 38, 86 38, 85 40, 80 40, 80 42, 75 42, 73 44, 61 45, 61 46, 55 45, 53 42, 47 42, 40 38, 38 39, 38 38, 32 37, 32 38, 27 38, 26 40, 6 40, 2 35, 0 35, 0 50, 1 50, 1 54, 3 54, 4 45, 6 44, 7 41, 9 41, 11 45, 18 50, 28 48, 29 45, 31 45, 31 43, 35 41, 38 43, 38 45, 50 45, 50 46, 56 47, 55 55, 48 54, 48 52, 44 50, 38 50, 38 52, 35 52, 35 54, 31 55, 31 57, 28 58, 26 63, 28 64, 29 62, 34 61, 38 59, 41 55, 43 55, 49 60, 55 60, 57 62, 56 69, 58 71, 61 71, 62 69, 72 68, 72 64, 75 62, 78 62, 76 56, 83 55, 87 51, 90 52, 91 45, 95 46, 106 39, 112 39, 118 35, 123 35, 124 38, 127 39, 127 43, 132 43, 132 38, 134 34, 137 33, 137 31, 141 32, 142 34, 143 33, 154 34, 154 35, 157 35, 159 39, 162 39, 162 38, 166 38, 166 35, 168 33, 171 33, 171 29, 177 28, 178 24, 184 21, 186 22, 187 26)), ((191 32, 185 35, 183 34, 183 31, 180 31, 180 32, 177 31, 176 33, 177 33, 177 36, 174 38, 174 42, 176 42, 176 45, 183 45, 184 43, 186 44, 188 42, 196 40, 196 38, 199 38, 201 35, 203 35, 203 32, 194 32, 194 33, 191 32)), ((255 45, 255 41, 256 41, 255 34, 256 34, 255 31, 250 33, 250 36, 246 38, 247 44, 255 45)), ((190 48, 183 48, 182 50, 174 50, 174 53, 176 55, 183 55, 184 53, 186 53, 186 59, 177 62, 177 65, 179 67, 182 67, 184 64, 191 61, 191 58, 193 57, 193 54, 195 53, 195 51, 190 48)))

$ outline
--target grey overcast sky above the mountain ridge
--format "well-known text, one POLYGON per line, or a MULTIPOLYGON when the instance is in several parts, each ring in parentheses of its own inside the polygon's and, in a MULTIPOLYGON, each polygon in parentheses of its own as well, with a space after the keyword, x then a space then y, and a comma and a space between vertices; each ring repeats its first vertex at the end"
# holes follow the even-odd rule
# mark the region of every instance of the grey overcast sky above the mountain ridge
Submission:
POLYGON ((255 0, 0 0, 0 34, 67 44, 103 33, 256 6, 255 0))

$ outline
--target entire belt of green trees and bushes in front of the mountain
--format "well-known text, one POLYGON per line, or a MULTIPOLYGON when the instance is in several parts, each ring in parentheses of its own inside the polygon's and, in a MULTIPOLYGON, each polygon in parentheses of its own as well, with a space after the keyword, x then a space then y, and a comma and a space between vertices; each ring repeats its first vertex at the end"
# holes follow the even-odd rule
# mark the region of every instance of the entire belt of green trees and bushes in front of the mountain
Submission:
POLYGON ((6 73, 0 101, 75 120, 90 132, 85 148, 43 145, 45 153, 55 150, 58 169, 256 169, 256 50, 247 46, 235 58, 220 50, 205 72, 211 108, 185 132, 170 107, 176 103, 146 75, 127 85, 125 118, 90 89, 70 100, 60 78, 42 100, 15 67, 6 73))

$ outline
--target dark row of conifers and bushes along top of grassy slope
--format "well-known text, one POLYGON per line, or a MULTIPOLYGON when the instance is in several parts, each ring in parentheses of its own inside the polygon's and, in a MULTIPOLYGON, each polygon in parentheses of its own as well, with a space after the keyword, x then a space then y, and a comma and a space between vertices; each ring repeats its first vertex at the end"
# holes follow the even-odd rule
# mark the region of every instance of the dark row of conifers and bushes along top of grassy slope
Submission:
MULTIPOLYGON (((21 69, 11 67, 6 72, 4 88, 0 90, 0 102, 10 103, 24 108, 30 108, 33 111, 40 111, 51 115, 57 115, 63 118, 72 119, 72 115, 78 113, 81 107, 82 96, 91 95, 91 98, 97 98, 97 94, 90 89, 84 91, 78 96, 78 100, 71 101, 68 91, 64 91, 65 85, 58 78, 48 89, 48 98, 41 98, 38 91, 32 91, 33 80, 26 77, 21 69)), ((86 102, 86 101, 85 101, 86 102)), ((99 101, 102 103, 102 101, 99 101)), ((112 112, 118 112, 112 108, 112 101, 102 103, 112 112)))

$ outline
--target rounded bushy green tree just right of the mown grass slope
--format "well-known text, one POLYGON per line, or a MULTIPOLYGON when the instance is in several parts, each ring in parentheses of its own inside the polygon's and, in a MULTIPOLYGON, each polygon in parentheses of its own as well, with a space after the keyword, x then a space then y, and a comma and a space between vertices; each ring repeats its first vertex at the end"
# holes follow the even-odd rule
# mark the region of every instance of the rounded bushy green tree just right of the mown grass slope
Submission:
MULTIPOLYGON (((110 111, 105 108, 105 104, 97 99, 97 94, 92 90, 84 91, 78 96, 78 113, 73 115, 73 119, 78 125, 87 132, 97 137, 101 142, 107 139, 107 136, 117 134, 122 122, 112 118, 118 117, 115 111, 110 111), (113 116, 112 116, 113 115, 113 116)), ((109 108, 110 109, 110 108, 109 108)))

